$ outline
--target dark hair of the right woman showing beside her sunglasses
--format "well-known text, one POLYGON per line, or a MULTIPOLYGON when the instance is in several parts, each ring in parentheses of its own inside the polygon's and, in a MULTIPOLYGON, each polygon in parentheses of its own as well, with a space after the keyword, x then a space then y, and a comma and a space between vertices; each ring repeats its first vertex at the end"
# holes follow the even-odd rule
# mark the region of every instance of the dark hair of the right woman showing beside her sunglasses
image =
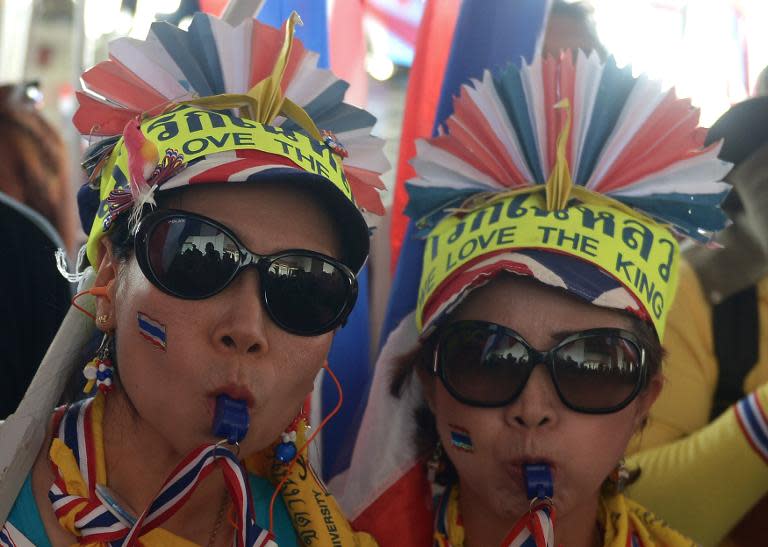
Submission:
MULTIPOLYGON (((648 366, 648 378, 653 378, 661 370, 664 349, 662 348, 655 331, 649 324, 633 315, 628 315, 628 317, 632 322, 631 330, 637 336, 641 347, 645 349, 645 362, 648 366)), ((435 343, 439 333, 440 329, 438 328, 429 338, 420 342, 415 349, 402 355, 397 360, 389 384, 389 391, 393 397, 399 399, 402 396, 407 383, 413 381, 412 377, 414 373, 419 374, 422 377, 431 376, 433 374, 432 366, 435 343)), ((414 412, 414 420, 416 421, 416 435, 413 442, 417 447, 419 456, 422 458, 429 458, 433 455, 433 451, 439 440, 435 416, 432 414, 432 411, 426 403, 424 403, 414 412)), ((436 482, 443 486, 455 483, 456 480, 458 480, 456 468, 444 453, 441 459, 442 461, 438 466, 440 472, 436 476, 436 482)), ((638 476, 639 470, 630 478, 629 483, 636 480, 638 476)))

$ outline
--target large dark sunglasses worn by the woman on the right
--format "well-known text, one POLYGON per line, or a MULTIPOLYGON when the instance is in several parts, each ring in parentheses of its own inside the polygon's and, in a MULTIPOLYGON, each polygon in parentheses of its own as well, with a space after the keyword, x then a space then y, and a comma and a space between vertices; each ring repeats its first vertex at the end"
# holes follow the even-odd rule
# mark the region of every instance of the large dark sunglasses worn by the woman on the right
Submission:
POLYGON ((617 412, 645 385, 645 351, 621 329, 578 332, 546 352, 512 329, 485 321, 457 321, 437 336, 433 372, 454 398, 471 406, 512 403, 538 364, 549 370, 563 404, 576 412, 617 412))

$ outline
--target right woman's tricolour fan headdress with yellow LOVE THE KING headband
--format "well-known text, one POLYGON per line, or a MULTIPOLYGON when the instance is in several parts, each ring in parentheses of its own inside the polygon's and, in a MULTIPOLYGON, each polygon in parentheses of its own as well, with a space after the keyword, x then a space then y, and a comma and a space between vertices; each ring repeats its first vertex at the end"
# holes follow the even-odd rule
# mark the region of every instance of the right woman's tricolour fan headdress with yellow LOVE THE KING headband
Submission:
MULTIPOLYGON (((598 268, 607 290, 590 289, 590 301, 631 309, 626 291, 663 336, 676 236, 709 241, 727 221, 719 204, 730 164, 717 158, 719 143, 703 146, 697 123, 673 90, 582 52, 463 86, 447 132, 417 143, 408 183, 406 212, 427 238, 420 332, 492 275, 485 258, 544 250, 598 268)), ((583 282, 568 279, 562 260, 554 270, 497 262, 568 290, 583 282)))

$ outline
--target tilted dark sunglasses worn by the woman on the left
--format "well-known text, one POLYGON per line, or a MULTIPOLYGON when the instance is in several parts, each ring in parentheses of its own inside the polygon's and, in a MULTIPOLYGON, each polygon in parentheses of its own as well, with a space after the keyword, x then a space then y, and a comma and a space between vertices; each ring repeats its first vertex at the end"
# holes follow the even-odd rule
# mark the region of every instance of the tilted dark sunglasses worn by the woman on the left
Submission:
POLYGON ((186 211, 164 209, 144 217, 134 248, 147 279, 185 300, 211 297, 254 266, 269 316, 280 328, 302 336, 342 325, 357 299, 355 275, 341 262, 301 249, 259 255, 226 226, 186 211))

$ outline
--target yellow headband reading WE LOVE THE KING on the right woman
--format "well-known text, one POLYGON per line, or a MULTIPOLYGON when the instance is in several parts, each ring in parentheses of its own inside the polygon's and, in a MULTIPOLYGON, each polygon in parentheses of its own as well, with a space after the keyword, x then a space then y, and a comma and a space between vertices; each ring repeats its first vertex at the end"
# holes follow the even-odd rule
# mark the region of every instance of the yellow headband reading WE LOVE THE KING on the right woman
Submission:
POLYGON ((677 286, 677 241, 663 226, 627 214, 610 199, 585 194, 591 196, 588 203, 551 212, 542 192, 529 190, 443 219, 424 248, 419 331, 430 298, 470 261, 495 251, 535 248, 575 256, 613 275, 645 308, 661 337, 677 286))

